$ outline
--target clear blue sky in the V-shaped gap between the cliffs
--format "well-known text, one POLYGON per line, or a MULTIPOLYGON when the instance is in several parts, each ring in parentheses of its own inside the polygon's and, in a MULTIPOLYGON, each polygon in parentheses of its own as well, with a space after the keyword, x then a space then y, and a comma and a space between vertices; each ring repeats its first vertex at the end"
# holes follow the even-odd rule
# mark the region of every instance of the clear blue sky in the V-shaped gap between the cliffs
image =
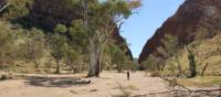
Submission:
POLYGON ((143 7, 137 9, 122 25, 120 34, 127 40, 134 57, 141 50, 155 31, 179 8, 185 0, 143 0, 143 7))

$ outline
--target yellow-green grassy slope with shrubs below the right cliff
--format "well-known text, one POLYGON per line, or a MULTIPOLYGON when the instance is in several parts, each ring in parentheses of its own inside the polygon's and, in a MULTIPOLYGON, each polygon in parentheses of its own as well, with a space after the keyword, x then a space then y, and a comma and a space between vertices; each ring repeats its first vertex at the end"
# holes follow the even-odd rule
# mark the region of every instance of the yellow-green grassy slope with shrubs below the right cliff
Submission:
MULTIPOLYGON (((185 45, 186 47, 179 48, 177 57, 181 68, 180 77, 191 77, 191 75, 196 75, 196 72, 200 74, 207 64, 209 66, 204 72, 204 76, 220 75, 219 64, 221 58, 219 41, 220 35, 215 35, 208 40, 196 40, 185 45)), ((176 56, 169 57, 162 74, 177 76, 177 74, 180 74, 178 67, 176 56)))

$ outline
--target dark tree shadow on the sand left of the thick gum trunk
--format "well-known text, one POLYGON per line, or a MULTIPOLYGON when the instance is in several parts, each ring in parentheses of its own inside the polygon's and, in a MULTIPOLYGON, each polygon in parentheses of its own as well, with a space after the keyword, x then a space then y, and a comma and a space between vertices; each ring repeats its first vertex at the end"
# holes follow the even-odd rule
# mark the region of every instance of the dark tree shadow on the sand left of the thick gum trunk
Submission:
POLYGON ((27 77, 27 84, 38 87, 72 87, 91 84, 91 80, 82 80, 81 78, 74 77, 39 77, 30 76, 27 77))

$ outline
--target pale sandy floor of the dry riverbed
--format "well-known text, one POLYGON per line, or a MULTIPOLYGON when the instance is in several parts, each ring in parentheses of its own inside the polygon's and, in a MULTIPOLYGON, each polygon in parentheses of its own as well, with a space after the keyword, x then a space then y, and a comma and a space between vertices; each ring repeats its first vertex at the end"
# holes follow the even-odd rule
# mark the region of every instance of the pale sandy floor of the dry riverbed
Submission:
POLYGON ((119 86, 133 95, 167 90, 167 85, 157 77, 146 77, 145 73, 131 74, 127 80, 125 73, 102 73, 101 78, 91 84, 74 84, 82 75, 29 75, 24 79, 0 82, 0 97, 114 97, 120 95, 119 86))

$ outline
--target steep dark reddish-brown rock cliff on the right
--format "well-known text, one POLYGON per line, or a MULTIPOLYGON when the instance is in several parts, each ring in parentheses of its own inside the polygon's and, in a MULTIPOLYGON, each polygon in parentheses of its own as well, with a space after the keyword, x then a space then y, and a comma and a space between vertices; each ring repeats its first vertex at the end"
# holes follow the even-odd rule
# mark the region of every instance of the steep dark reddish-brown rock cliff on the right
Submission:
POLYGON ((169 18, 147 41, 139 63, 162 45, 165 34, 176 35, 180 44, 212 37, 221 32, 221 0, 186 0, 177 13, 169 18))

